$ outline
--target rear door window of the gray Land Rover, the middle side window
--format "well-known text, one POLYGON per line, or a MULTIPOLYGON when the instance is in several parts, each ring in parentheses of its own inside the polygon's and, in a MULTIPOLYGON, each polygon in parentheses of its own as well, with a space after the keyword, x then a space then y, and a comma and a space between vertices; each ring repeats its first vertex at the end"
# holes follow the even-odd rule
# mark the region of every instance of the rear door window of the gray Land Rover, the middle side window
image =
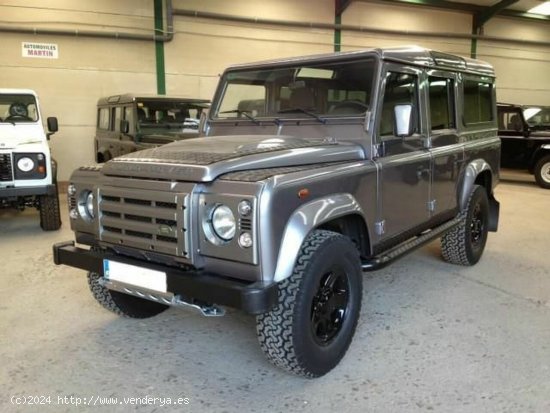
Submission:
POLYGON ((428 78, 428 83, 431 130, 456 128, 454 80, 430 76, 428 78))

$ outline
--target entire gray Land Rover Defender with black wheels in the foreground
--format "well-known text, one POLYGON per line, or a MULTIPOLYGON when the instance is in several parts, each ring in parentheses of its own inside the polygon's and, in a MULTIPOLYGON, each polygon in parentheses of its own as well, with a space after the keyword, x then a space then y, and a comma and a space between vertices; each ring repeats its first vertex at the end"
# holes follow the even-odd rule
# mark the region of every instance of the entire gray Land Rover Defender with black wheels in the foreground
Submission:
POLYGON ((363 271, 436 238, 450 263, 480 259, 499 216, 494 81, 420 48, 230 67, 205 137, 73 173, 79 245, 54 261, 122 316, 254 314, 272 363, 321 376, 351 343, 363 271))

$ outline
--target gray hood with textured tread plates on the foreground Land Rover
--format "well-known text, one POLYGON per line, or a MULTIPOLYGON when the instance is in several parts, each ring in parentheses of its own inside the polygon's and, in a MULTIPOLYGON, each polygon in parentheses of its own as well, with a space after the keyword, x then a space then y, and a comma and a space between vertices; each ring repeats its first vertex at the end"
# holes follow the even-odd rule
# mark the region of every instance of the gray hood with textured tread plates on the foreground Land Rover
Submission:
POLYGON ((332 138, 232 135, 178 141, 112 159, 104 175, 210 182, 254 169, 318 165, 365 158, 360 145, 332 138))

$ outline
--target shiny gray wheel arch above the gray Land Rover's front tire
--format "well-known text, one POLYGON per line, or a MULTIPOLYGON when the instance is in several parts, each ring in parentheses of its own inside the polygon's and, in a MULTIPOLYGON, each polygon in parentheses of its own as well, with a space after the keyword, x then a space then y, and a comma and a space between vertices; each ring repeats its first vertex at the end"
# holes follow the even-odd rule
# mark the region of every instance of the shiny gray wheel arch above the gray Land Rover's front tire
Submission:
POLYGON ((315 229, 349 236, 360 253, 370 248, 365 215, 353 195, 342 193, 315 199, 300 206, 290 216, 281 238, 273 281, 280 282, 290 277, 302 243, 315 229))

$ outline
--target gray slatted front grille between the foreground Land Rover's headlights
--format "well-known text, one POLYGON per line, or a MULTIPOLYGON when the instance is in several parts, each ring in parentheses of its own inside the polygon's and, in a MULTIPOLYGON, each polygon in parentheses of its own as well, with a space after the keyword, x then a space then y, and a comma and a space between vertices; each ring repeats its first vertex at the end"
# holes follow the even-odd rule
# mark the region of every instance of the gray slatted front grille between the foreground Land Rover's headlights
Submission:
POLYGON ((100 239, 188 258, 187 194, 105 187, 99 191, 100 239))

